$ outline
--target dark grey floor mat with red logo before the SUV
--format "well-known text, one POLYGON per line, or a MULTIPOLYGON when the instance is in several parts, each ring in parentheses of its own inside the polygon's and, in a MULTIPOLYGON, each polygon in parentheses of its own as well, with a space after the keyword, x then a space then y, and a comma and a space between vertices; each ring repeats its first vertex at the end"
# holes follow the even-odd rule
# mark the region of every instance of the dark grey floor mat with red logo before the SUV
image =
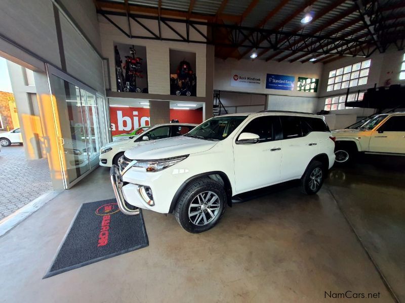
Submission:
POLYGON ((80 206, 45 278, 149 245, 142 211, 121 213, 115 199, 80 206))

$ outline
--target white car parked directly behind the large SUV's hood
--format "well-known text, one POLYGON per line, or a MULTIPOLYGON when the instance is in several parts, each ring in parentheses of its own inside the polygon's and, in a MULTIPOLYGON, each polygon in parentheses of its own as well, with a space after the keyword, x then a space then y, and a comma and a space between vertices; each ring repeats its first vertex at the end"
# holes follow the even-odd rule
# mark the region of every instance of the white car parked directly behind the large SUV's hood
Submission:
POLYGON ((188 133, 197 124, 189 123, 167 123, 155 125, 148 130, 131 137, 131 139, 117 140, 108 143, 100 149, 100 165, 112 166, 118 164, 118 158, 124 155, 124 152, 134 146, 142 145, 149 140, 158 140, 168 137, 180 136, 188 133))

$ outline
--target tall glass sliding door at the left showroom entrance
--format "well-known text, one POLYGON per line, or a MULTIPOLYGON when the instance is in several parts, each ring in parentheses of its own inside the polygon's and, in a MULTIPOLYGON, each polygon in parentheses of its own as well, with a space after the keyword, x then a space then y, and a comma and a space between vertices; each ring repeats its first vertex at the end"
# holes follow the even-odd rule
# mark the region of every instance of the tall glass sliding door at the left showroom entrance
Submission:
POLYGON ((54 67, 47 69, 67 189, 98 166, 100 147, 105 144, 100 130, 103 117, 98 114, 102 102, 90 87, 54 67))

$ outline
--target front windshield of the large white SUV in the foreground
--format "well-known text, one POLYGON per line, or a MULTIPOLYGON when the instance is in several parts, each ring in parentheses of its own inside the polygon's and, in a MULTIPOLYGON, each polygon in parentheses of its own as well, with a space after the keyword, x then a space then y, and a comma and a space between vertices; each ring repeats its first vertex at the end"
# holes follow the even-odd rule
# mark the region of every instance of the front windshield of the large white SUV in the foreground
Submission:
POLYGON ((198 125, 185 134, 187 137, 220 141, 228 137, 247 116, 216 117, 198 125))

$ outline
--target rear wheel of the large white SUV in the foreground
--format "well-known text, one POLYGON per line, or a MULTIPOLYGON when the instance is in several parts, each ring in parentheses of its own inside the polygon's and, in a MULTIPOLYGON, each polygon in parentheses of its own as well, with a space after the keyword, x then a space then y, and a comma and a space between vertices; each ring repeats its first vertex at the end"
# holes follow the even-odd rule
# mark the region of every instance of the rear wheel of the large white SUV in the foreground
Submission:
POLYGON ((326 173, 325 165, 319 161, 312 161, 301 178, 302 191, 306 194, 317 193, 325 181, 326 173), (318 172, 320 173, 319 178, 317 177, 318 172))

